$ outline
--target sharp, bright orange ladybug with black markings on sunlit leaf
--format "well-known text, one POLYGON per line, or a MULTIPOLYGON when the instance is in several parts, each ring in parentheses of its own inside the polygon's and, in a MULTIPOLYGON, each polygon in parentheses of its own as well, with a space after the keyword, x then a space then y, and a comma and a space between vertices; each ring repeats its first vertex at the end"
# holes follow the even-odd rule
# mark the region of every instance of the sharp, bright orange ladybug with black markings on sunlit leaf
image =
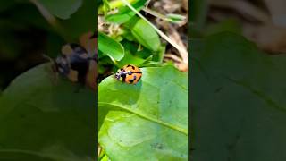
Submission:
POLYGON ((122 82, 128 84, 137 84, 141 79, 141 76, 141 70, 139 69, 139 67, 133 64, 124 65, 114 75, 116 80, 121 80, 122 82))

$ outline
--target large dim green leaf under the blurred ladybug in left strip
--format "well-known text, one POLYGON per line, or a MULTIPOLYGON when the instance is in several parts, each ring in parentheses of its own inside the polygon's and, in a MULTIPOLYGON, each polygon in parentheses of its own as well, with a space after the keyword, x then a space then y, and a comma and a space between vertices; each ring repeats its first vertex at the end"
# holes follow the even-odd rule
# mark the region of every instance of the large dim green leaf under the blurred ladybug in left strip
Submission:
POLYGON ((55 80, 50 67, 42 64, 21 74, 2 93, 0 160, 96 156, 94 92, 55 80))

